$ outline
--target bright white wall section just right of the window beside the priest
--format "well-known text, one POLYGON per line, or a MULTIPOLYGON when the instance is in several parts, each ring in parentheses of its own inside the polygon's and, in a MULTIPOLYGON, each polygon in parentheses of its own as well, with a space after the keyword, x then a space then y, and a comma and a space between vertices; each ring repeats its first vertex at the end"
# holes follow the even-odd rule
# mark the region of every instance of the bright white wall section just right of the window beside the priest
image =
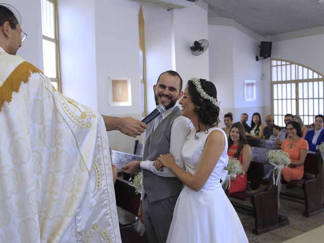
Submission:
POLYGON ((98 110, 95 2, 59 0, 62 93, 98 110))

